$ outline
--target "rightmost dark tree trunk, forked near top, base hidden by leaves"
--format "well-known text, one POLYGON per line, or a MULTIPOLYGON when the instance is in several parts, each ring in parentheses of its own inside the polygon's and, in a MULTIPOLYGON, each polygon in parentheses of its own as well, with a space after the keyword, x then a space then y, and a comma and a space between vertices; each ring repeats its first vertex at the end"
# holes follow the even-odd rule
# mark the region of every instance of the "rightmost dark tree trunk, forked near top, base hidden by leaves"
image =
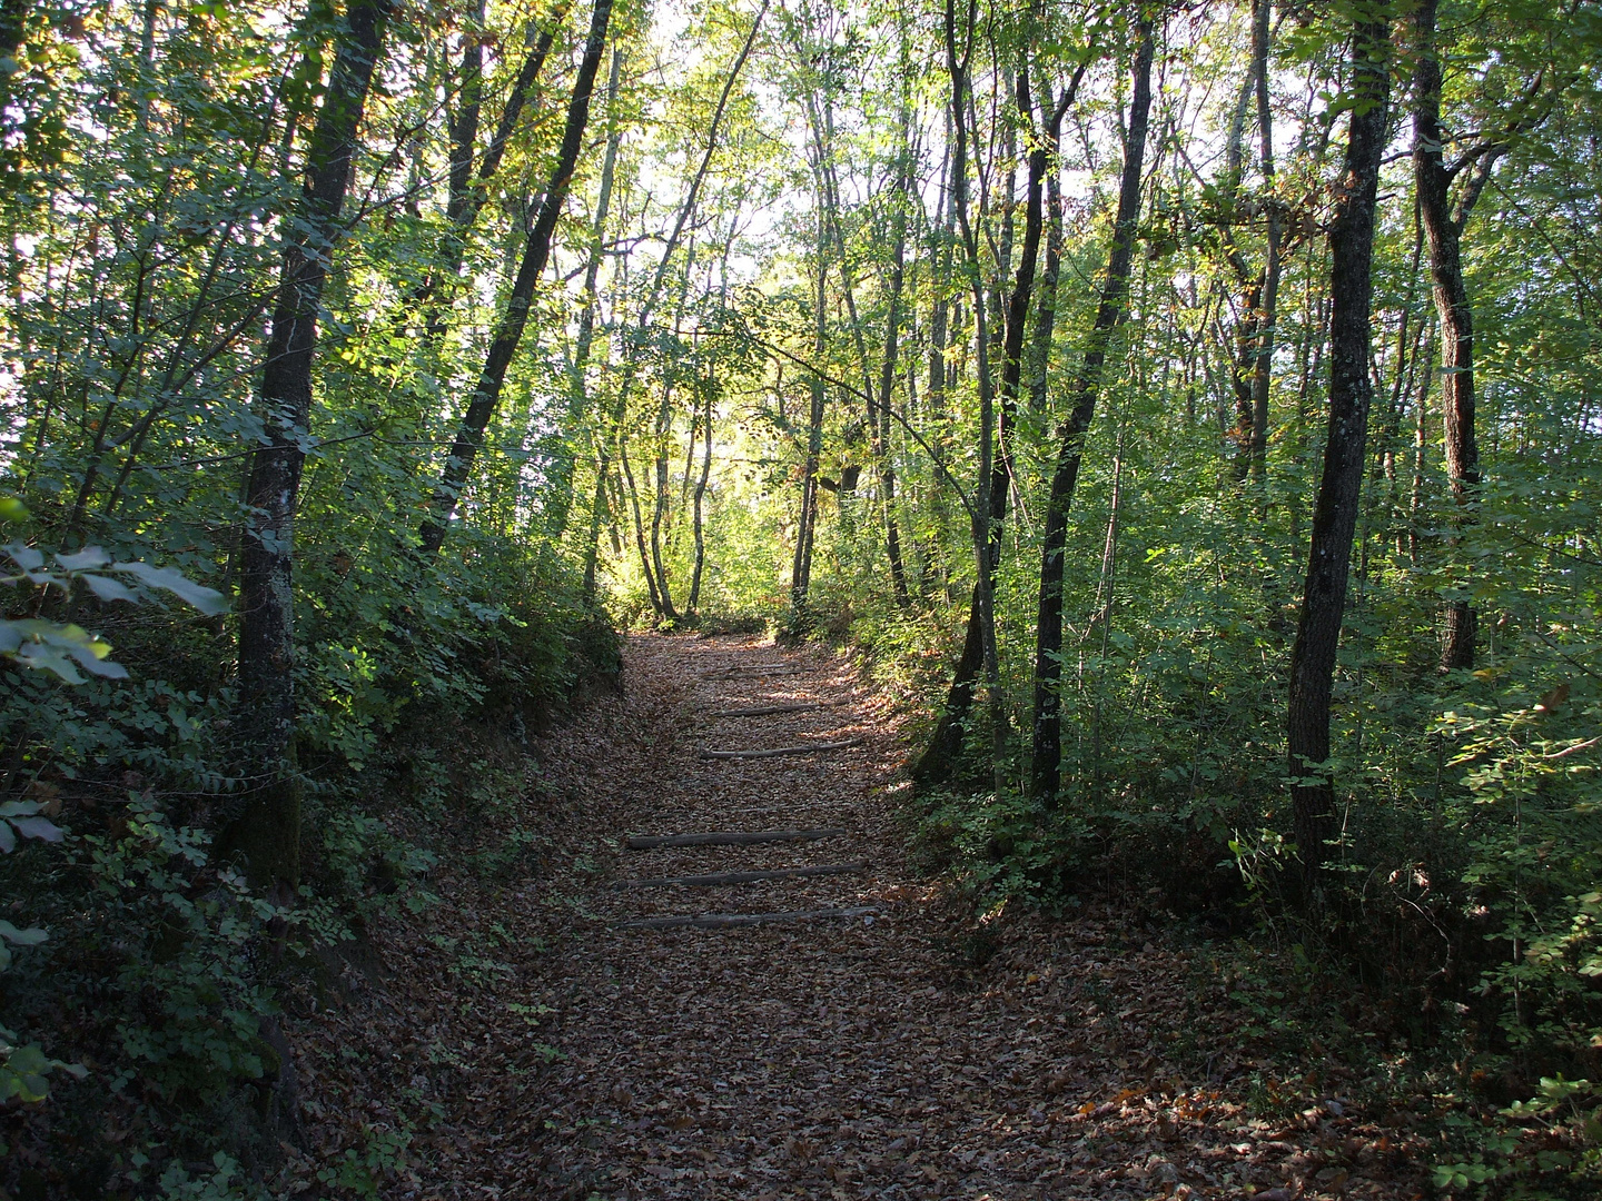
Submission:
MULTIPOLYGON (((1445 163, 1440 128, 1440 54, 1435 46, 1437 0, 1419 0, 1413 14, 1418 37, 1413 109, 1413 178, 1419 215, 1429 239, 1429 274, 1435 285, 1435 312, 1440 317, 1440 426, 1447 450, 1447 480, 1451 484, 1453 544, 1472 524, 1474 496, 1480 484, 1480 455, 1474 440, 1474 306, 1463 279, 1463 229, 1477 189, 1469 189, 1458 210, 1451 205, 1451 184, 1458 170, 1445 163)), ((1490 151, 1488 157, 1495 157, 1490 151)), ((1464 160, 1467 162, 1467 160, 1464 160)), ((1480 160, 1480 171, 1490 163, 1480 160)), ((1447 602, 1447 631, 1440 669, 1474 666, 1474 605, 1459 596, 1447 602)))

